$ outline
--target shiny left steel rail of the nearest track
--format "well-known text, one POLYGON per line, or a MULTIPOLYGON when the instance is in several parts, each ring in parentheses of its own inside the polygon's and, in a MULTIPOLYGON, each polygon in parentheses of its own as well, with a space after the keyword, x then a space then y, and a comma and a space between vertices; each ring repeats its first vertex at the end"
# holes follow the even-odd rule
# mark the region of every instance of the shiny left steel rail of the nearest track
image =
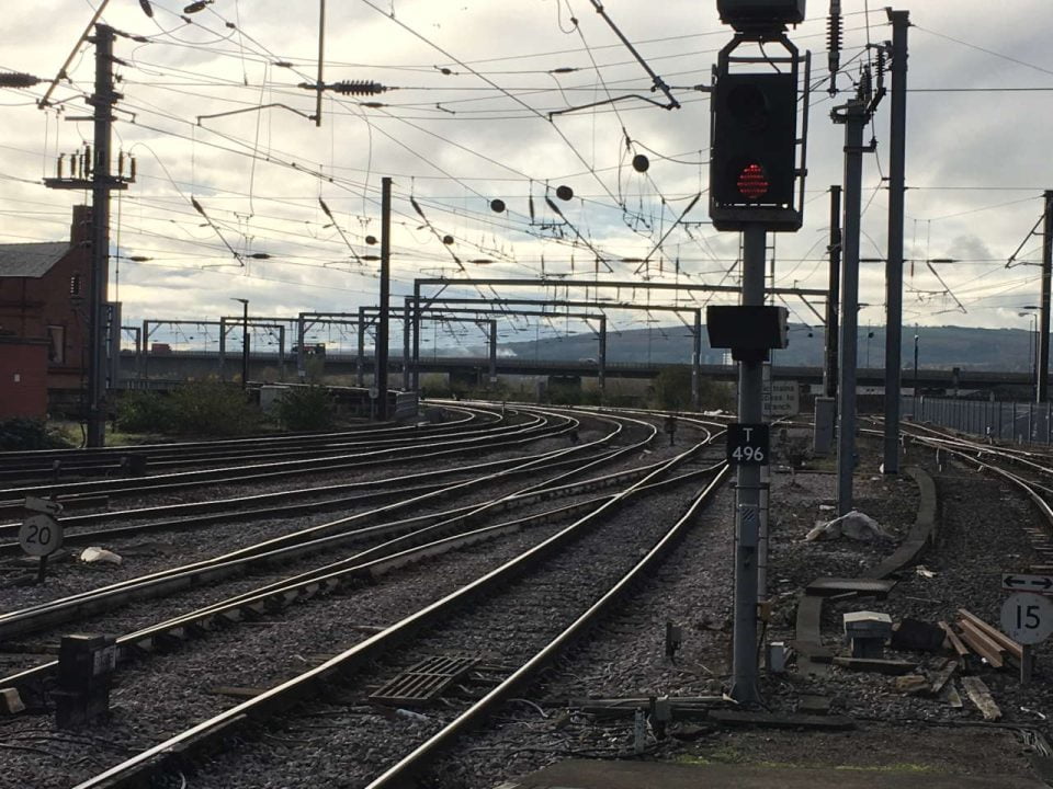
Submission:
MULTIPOLYGON (((147 748, 93 778, 78 784, 75 789, 117 789, 118 787, 135 786, 144 781, 149 774, 156 773, 163 767, 171 758, 176 756, 184 758, 195 748, 202 747, 214 737, 230 734, 237 727, 249 720, 259 720, 272 716, 293 704, 304 700, 308 695, 320 693, 326 682, 339 675, 347 675, 358 671, 366 663, 376 660, 385 652, 405 641, 414 632, 445 618, 455 607, 474 599, 499 584, 503 584, 509 578, 521 574, 534 562, 548 557, 565 544, 580 536, 586 529, 595 526, 596 521, 604 513, 608 513, 637 494, 638 489, 647 482, 660 477, 667 469, 675 468, 682 464, 694 454, 699 446, 701 445, 692 447, 688 451, 661 464, 658 469, 652 471, 641 481, 633 483, 626 490, 611 496, 592 513, 575 521, 557 534, 530 548, 501 567, 469 582, 456 592, 405 617, 399 622, 385 628, 382 632, 364 639, 321 665, 310 668, 293 679, 270 688, 252 699, 244 701, 165 742, 147 748)), ((718 479, 723 480, 725 476, 726 471, 722 471, 718 474, 718 479)))

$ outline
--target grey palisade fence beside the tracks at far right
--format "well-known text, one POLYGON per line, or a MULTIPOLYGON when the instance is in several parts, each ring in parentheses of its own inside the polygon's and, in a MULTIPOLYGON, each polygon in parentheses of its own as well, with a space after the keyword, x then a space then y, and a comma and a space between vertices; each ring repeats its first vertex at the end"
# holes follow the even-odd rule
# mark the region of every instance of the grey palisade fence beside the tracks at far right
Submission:
POLYGON ((918 423, 973 433, 1016 444, 1051 444, 1050 403, 993 402, 905 396, 901 414, 918 423))

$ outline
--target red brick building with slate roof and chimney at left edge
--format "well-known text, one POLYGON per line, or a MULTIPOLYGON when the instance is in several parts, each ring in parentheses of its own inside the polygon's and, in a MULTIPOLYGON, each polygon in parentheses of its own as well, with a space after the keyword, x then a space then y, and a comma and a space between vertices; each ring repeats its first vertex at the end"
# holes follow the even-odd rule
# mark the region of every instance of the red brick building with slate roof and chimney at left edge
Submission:
POLYGON ((0 419, 43 416, 48 395, 81 388, 90 271, 89 206, 73 207, 69 241, 0 244, 0 419))

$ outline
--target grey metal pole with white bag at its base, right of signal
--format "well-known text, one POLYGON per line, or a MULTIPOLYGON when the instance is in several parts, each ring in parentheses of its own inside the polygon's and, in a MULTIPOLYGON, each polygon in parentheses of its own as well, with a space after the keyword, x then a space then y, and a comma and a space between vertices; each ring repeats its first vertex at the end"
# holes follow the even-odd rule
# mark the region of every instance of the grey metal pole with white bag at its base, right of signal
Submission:
POLYGON ((852 510, 856 467, 856 356, 859 322, 859 231, 862 210, 863 128, 867 102, 853 99, 837 119, 845 124, 845 240, 841 261, 840 382, 838 386, 837 511, 852 510))

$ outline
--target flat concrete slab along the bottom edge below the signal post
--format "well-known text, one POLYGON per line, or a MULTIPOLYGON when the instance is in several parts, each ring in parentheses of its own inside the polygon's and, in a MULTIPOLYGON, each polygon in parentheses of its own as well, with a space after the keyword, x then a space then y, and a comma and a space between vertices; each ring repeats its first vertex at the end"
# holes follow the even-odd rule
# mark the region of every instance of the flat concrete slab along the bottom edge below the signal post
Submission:
POLYGON ((937 771, 567 761, 502 785, 508 789, 1048 789, 1020 776, 937 771))

